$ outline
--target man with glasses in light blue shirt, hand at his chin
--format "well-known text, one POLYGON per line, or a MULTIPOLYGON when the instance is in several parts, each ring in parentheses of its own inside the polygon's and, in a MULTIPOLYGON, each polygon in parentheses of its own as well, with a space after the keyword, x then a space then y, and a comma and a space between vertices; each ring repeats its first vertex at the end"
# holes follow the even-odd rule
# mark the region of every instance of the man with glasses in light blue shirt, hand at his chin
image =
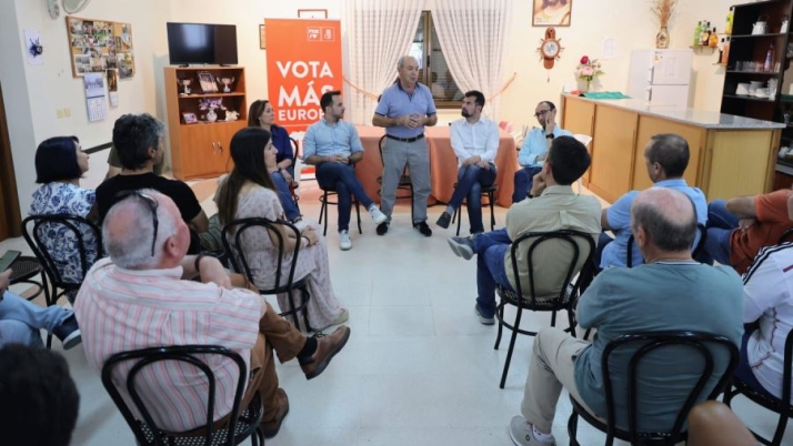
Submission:
POLYGON ((556 105, 551 101, 542 101, 534 109, 534 118, 540 123, 532 129, 523 140, 521 151, 518 153, 518 164, 521 170, 515 172, 515 189, 512 193, 512 203, 525 200, 531 191, 534 175, 542 170, 542 164, 548 156, 548 150, 554 138, 572 136, 573 134, 556 125, 556 105))

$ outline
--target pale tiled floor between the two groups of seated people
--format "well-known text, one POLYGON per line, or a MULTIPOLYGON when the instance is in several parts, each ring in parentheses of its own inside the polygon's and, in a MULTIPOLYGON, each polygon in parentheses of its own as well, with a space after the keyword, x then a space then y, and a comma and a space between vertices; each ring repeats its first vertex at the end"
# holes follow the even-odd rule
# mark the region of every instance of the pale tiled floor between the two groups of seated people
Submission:
MULTIPOLYGON (((319 193, 312 183, 303 184, 301 210, 315 219, 319 193)), ((200 193, 201 199, 210 192, 200 193)), ((213 211, 211 200, 203 204, 208 213, 213 211)), ((278 365, 291 412, 269 446, 511 444, 506 425, 520 410, 532 338, 519 336, 506 387, 500 389, 506 342, 493 349, 495 327, 481 325, 474 316, 475 263, 452 255, 445 240, 453 231, 434 225, 441 212, 441 206, 429 210, 434 231, 429 239, 411 229, 406 203, 398 205, 391 230, 382 237, 364 215, 363 235, 353 231, 353 249, 341 252, 335 209, 331 210, 333 285, 350 308, 352 337, 324 374, 311 382, 297 363, 278 365)), ((496 213, 502 227, 506 210, 496 207, 496 213)), ((21 239, 1 242, 0 252, 7 249, 28 252, 21 239)), ((566 321, 566 315, 560 316, 566 321)), ((524 323, 545 326, 550 316, 531 314, 524 323)), ((72 444, 134 444, 82 349, 64 355, 81 395, 72 444)), ((737 413, 761 433, 773 430, 773 415, 751 404, 739 404, 737 413)), ((569 415, 563 394, 553 427, 560 445, 568 443, 569 415)), ((604 436, 580 423, 579 439, 598 445, 604 436)), ((793 445, 793 433, 785 444, 793 445)))

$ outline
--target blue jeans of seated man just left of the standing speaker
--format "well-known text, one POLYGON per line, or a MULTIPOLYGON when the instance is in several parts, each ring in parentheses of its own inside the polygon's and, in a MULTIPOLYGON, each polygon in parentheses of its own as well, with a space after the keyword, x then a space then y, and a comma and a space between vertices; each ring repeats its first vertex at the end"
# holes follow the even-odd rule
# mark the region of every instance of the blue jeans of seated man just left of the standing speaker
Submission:
POLYGON ((350 164, 325 162, 317 166, 317 183, 322 189, 339 194, 339 232, 350 230, 352 196, 369 209, 374 202, 363 191, 363 185, 355 176, 355 169, 350 164))

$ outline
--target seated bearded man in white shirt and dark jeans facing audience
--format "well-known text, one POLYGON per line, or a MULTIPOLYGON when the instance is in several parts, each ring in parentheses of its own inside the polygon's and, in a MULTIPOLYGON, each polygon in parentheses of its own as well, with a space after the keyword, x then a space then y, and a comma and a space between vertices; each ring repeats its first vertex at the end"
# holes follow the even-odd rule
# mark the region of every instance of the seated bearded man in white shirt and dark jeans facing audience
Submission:
POLYGON ((499 128, 482 118, 484 94, 476 90, 465 93, 462 104, 463 119, 452 123, 452 149, 458 155, 458 185, 446 210, 438 219, 439 226, 446 229, 452 214, 468 199, 468 221, 471 234, 484 232, 482 225, 482 187, 495 181, 495 153, 499 150, 499 128))

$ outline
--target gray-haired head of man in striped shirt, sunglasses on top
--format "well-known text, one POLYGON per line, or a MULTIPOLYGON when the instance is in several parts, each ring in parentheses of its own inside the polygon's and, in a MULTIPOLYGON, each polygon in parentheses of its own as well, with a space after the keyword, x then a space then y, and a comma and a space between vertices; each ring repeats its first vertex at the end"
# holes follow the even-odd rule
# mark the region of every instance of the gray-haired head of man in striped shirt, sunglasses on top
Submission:
POLYGON ((127 270, 151 270, 162 260, 162 246, 165 240, 177 234, 178 221, 165 211, 161 197, 164 195, 151 189, 139 191, 151 195, 158 200, 157 206, 157 241, 154 242, 154 255, 151 255, 151 239, 154 236, 154 225, 152 224, 151 210, 147 203, 134 195, 116 203, 104 216, 102 224, 102 242, 104 252, 118 266, 127 270), (135 231, 120 232, 111 231, 108 222, 120 219, 120 213, 124 213, 123 219, 129 220, 128 227, 135 227, 135 231))

